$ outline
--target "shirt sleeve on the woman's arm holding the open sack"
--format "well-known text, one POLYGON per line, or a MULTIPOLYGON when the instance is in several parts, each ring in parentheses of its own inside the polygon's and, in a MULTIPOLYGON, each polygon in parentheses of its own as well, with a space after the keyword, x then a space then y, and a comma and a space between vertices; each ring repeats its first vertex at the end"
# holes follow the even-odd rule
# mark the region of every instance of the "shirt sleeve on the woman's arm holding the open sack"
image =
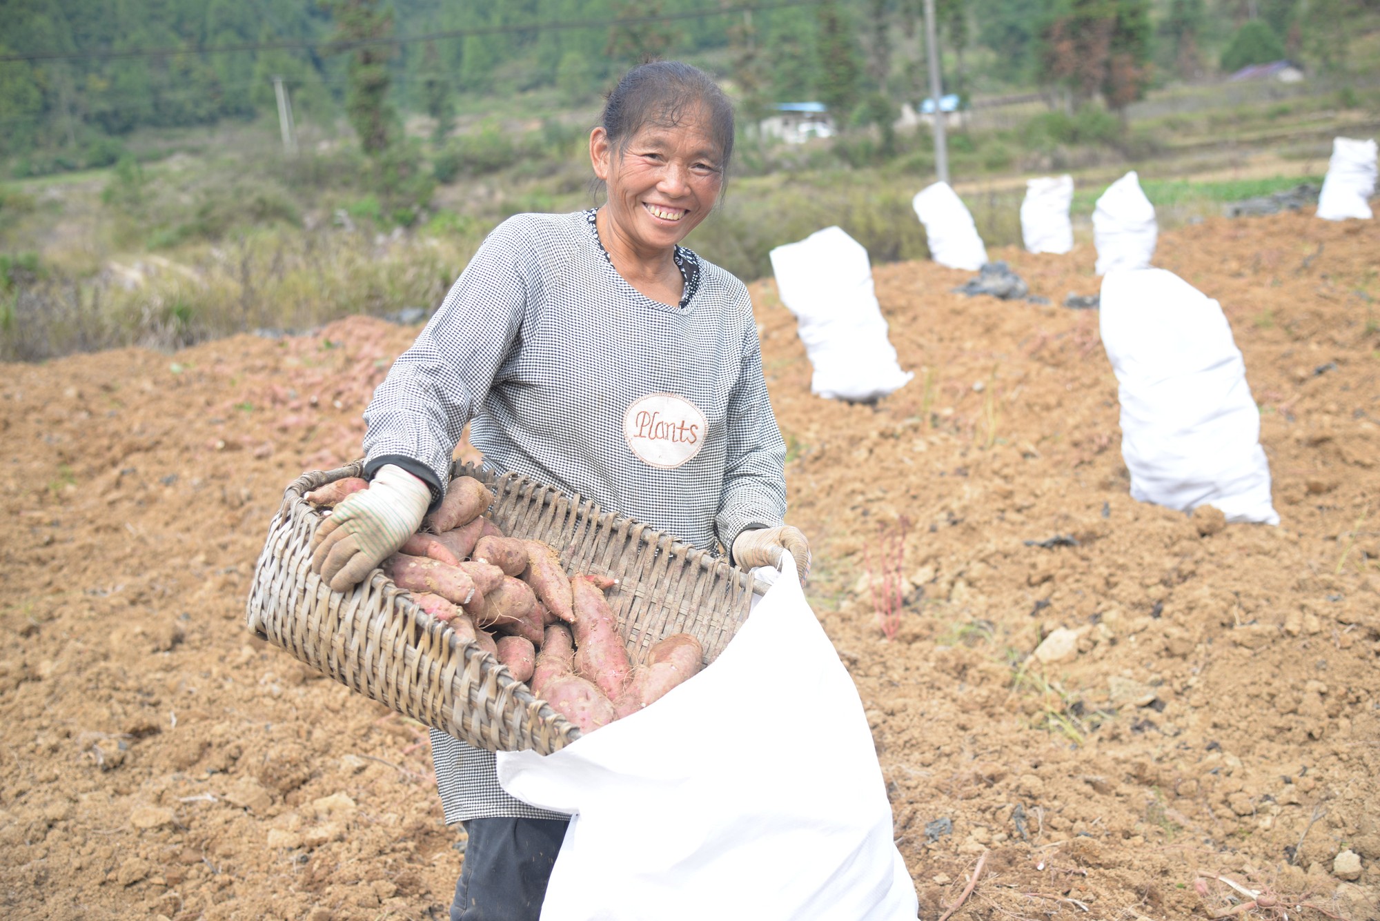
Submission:
POLYGON ((747 324, 742 370, 729 396, 729 449, 715 532, 724 549, 747 528, 785 518, 785 443, 762 376, 762 342, 747 324))

